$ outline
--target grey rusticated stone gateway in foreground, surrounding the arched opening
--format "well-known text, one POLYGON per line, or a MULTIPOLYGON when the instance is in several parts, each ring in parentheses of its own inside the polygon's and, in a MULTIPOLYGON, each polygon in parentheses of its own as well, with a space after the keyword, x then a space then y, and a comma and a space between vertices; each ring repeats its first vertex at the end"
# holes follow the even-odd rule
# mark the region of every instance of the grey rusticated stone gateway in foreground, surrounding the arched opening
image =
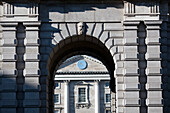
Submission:
POLYGON ((1 0, 0 112, 53 112, 55 72, 78 54, 108 69, 116 113, 170 112, 169 12, 168 0, 1 0))

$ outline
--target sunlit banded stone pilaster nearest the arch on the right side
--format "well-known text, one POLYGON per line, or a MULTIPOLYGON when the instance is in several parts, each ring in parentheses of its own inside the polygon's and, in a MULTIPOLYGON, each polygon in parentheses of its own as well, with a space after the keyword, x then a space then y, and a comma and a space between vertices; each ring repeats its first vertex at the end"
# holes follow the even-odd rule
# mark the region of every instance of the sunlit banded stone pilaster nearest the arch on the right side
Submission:
MULTIPOLYGON (((138 73, 138 42, 137 26, 139 22, 124 22, 124 84, 123 90, 123 113, 139 113, 139 73, 138 73)), ((118 111, 119 112, 119 111, 118 111)))

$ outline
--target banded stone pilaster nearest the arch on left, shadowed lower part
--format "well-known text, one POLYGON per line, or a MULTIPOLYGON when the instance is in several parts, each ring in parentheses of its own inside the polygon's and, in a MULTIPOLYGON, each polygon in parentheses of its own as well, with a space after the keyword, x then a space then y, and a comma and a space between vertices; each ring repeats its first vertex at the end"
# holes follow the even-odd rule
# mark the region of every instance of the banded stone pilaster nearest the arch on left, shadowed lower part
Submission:
POLYGON ((39 25, 39 22, 24 22, 24 26, 26 27, 26 38, 24 40, 24 113, 40 112, 39 25))

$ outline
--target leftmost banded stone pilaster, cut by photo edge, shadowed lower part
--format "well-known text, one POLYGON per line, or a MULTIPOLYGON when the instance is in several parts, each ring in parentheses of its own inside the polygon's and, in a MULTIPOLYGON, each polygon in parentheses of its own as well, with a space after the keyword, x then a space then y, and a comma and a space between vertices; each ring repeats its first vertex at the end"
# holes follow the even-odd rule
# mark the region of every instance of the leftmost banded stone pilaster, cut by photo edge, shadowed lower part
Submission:
POLYGON ((1 113, 16 113, 16 26, 17 23, 0 23, 0 92, 1 113))

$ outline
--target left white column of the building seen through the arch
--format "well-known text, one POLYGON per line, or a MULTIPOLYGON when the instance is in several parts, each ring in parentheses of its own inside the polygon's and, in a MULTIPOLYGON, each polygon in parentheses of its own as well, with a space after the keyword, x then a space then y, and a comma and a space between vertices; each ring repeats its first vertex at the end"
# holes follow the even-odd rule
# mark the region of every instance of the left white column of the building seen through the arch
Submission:
POLYGON ((64 82, 64 113, 69 113, 69 81, 64 82))

